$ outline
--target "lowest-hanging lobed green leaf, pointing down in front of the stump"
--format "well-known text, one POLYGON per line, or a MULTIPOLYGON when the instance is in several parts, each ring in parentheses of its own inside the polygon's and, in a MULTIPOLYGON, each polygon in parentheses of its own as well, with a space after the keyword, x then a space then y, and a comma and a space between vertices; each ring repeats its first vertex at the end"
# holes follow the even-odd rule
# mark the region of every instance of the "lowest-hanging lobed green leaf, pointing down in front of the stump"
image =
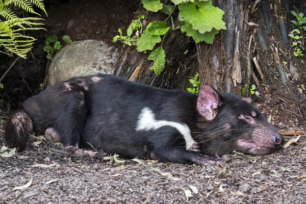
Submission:
POLYGON ((166 54, 162 46, 159 46, 158 48, 153 50, 148 56, 148 60, 154 61, 154 65, 151 66, 149 69, 153 70, 156 75, 159 75, 164 70, 166 63, 166 54))

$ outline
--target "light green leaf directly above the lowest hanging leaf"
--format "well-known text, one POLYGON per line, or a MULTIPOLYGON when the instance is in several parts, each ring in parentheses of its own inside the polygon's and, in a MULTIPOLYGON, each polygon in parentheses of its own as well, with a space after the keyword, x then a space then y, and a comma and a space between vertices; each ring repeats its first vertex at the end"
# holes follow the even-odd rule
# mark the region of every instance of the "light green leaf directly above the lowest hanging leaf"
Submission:
POLYGON ((145 50, 152 50, 155 44, 161 41, 162 39, 160 36, 150 35, 144 31, 136 43, 137 51, 143 52, 145 50))

